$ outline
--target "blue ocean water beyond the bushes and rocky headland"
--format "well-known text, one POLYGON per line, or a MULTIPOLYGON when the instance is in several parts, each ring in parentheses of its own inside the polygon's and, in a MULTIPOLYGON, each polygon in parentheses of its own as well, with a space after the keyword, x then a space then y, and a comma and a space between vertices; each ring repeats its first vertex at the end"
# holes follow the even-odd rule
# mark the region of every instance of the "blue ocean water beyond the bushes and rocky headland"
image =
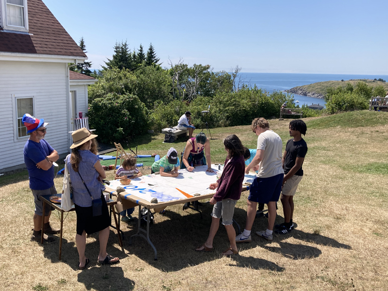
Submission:
MULTIPOLYGON (((339 74, 287 74, 287 73, 240 73, 244 82, 251 87, 256 86, 268 92, 284 91, 296 86, 308 85, 323 81, 341 81, 350 79, 379 79, 388 81, 387 75, 339 75, 339 74)), ((326 102, 320 98, 312 98, 294 94, 296 105, 320 104, 325 107, 326 102)))

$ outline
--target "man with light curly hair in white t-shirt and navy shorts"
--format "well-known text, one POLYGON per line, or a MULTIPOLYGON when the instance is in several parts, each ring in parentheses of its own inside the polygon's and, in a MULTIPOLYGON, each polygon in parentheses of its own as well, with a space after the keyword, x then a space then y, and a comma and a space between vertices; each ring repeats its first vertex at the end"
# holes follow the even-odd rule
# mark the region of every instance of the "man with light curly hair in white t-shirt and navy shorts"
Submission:
POLYGON ((251 229, 256 215, 258 203, 268 206, 268 226, 264 231, 256 234, 268 241, 273 240, 272 232, 276 218, 276 202, 279 200, 284 177, 282 165, 282 140, 272 130, 264 118, 255 118, 252 121, 252 131, 258 135, 256 156, 245 168, 245 173, 259 164, 257 177, 249 189, 248 210, 244 231, 236 237, 236 242, 251 242, 251 229))

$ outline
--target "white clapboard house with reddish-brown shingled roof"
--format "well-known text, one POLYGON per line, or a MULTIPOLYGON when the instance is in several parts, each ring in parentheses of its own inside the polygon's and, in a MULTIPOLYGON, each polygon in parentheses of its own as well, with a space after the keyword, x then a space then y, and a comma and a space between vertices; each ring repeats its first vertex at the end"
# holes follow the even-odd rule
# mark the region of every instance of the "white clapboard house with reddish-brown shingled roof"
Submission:
POLYGON ((60 155, 69 152, 71 119, 87 113, 87 84, 96 80, 69 78, 68 63, 84 60, 42 0, 0 0, 0 172, 25 166, 24 113, 49 122, 45 139, 60 155))

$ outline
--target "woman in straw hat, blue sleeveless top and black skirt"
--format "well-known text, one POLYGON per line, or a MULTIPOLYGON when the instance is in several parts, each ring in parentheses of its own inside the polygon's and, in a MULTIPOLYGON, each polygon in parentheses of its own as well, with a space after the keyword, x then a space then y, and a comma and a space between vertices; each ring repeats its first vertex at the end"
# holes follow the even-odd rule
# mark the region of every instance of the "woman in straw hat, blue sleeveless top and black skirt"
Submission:
POLYGON ((102 195, 102 190, 105 187, 99 182, 99 180, 105 178, 105 171, 98 157, 90 151, 92 140, 97 135, 91 134, 86 128, 82 128, 74 131, 71 136, 73 138, 73 145, 70 146, 72 152, 65 162, 70 173, 73 202, 77 214, 76 243, 80 256, 78 269, 85 269, 89 263, 89 259, 85 257, 86 234, 97 231, 99 231, 100 243, 98 262, 100 264, 118 263, 118 258, 113 258, 106 252, 111 218, 102 195), (92 200, 99 202, 98 199, 102 201, 102 214, 93 216, 96 213, 93 213, 92 200))

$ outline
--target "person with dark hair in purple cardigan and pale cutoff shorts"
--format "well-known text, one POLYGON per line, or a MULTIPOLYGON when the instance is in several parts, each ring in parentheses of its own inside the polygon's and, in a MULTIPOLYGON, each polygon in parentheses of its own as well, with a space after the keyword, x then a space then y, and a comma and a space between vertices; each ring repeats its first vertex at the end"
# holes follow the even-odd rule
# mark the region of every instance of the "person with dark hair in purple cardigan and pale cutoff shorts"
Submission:
POLYGON ((220 225, 226 228, 230 247, 222 253, 223 256, 231 256, 239 253, 236 245, 236 231, 232 225, 234 207, 237 200, 240 199, 242 190, 242 181, 244 179, 245 161, 243 154, 245 152, 240 139, 231 134, 224 140, 227 157, 221 178, 216 183, 211 183, 209 189, 217 189, 216 194, 210 199, 210 204, 214 205, 211 213, 211 226, 209 237, 206 242, 196 248, 197 252, 211 252, 213 250, 213 239, 220 225))

